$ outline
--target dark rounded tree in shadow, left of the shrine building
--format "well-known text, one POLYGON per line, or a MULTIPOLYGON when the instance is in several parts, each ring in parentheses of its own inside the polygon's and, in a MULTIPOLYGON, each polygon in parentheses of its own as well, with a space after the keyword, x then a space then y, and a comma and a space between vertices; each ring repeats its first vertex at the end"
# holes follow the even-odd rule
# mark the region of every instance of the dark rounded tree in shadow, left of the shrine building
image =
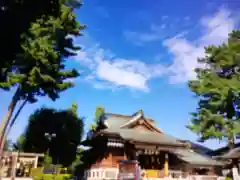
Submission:
POLYGON ((69 109, 39 109, 29 118, 24 133, 23 150, 49 152, 54 164, 69 166, 75 160, 77 147, 83 136, 83 126, 83 118, 79 118, 69 109), (50 140, 46 133, 56 136, 50 140))

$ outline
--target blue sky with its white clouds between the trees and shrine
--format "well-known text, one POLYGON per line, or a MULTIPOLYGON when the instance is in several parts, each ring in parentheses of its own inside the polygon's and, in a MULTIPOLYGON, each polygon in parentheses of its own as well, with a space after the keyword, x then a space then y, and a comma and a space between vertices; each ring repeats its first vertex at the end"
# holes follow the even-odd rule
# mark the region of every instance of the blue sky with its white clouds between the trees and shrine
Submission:
MULTIPOLYGON (((37 108, 63 109, 75 101, 87 125, 98 105, 112 113, 142 109, 166 133, 195 141, 196 135, 185 128, 197 104, 187 81, 195 77, 193 69, 204 46, 226 41, 239 27, 239 7, 240 2, 229 0, 86 0, 76 11, 87 25, 84 36, 75 39, 82 50, 67 63, 81 72, 76 87, 55 102, 42 98, 27 105, 10 138, 19 136, 37 108)), ((0 117, 11 96, 0 92, 0 117)))

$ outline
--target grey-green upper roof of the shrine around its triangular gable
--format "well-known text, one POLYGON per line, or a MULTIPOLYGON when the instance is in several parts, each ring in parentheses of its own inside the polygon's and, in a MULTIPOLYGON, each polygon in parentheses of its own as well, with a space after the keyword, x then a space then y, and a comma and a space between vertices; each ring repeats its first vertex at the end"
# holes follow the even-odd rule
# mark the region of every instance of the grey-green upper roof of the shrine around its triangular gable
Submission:
POLYGON ((106 129, 101 130, 103 133, 117 133, 123 139, 132 140, 135 142, 144 142, 152 144, 165 145, 184 145, 177 138, 167 135, 155 126, 155 121, 146 118, 142 110, 130 116, 119 114, 105 114, 106 129), (143 120, 151 130, 132 129, 129 126, 136 123, 138 120, 143 120))

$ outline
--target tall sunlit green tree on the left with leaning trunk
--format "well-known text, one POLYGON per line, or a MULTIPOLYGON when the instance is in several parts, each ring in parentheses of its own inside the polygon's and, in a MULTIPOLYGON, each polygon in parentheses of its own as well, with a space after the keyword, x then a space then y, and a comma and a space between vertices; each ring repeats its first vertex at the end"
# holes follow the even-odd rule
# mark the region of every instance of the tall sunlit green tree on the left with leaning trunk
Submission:
POLYGON ((73 45, 73 36, 81 35, 80 30, 84 28, 74 14, 79 4, 72 3, 72 0, 58 2, 59 11, 54 10, 55 16, 40 13, 41 16, 37 16, 39 18, 31 23, 29 30, 21 34, 22 53, 9 65, 4 81, 0 81, 0 88, 16 89, 0 126, 0 154, 16 105, 21 101, 34 103, 41 96, 55 100, 60 92, 74 85, 66 80, 79 75, 75 69, 66 69, 64 63, 66 58, 79 50, 73 45))

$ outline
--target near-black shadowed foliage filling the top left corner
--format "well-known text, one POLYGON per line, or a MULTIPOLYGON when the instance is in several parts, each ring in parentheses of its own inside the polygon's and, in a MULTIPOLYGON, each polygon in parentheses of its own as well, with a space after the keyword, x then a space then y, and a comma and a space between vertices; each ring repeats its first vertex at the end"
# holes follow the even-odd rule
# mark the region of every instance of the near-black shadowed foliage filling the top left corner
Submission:
MULTIPOLYGON (((17 65, 18 55, 23 53, 21 35, 26 33, 31 23, 42 15, 58 17, 61 10, 59 0, 3 0, 0 4, 1 34, 4 44, 1 48, 0 82, 6 81, 7 73, 17 65), (31 7, 31 8, 29 8, 31 7)), ((79 4, 71 1, 71 4, 79 4)))

